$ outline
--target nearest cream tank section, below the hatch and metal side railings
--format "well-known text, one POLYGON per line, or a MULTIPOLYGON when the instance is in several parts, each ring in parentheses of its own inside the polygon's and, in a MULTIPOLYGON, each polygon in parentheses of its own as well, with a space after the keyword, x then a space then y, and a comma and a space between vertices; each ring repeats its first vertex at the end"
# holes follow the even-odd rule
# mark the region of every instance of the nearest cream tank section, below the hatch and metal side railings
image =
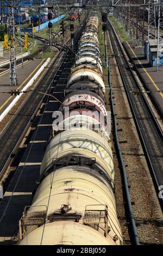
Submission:
MULTIPOLYGON (((42 245, 116 245, 114 241, 103 238, 98 231, 90 230, 86 225, 70 221, 60 221, 45 225, 45 235, 42 245), (65 243, 66 241, 66 243, 65 243)), ((28 238, 28 245, 40 245, 43 227, 33 230, 28 238)), ((20 245, 27 245, 27 239, 23 239, 20 245)))

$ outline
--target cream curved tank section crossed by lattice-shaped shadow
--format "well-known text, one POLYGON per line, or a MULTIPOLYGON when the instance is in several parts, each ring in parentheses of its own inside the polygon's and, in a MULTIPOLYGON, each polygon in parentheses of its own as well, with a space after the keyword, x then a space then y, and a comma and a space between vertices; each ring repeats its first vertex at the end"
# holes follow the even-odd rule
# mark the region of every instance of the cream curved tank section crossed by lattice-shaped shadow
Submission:
POLYGON ((80 152, 84 150, 87 155, 87 151, 91 154, 95 154, 101 157, 101 159, 108 164, 108 175, 110 179, 114 180, 114 164, 112 159, 112 151, 108 138, 98 135, 95 131, 82 131, 82 130, 68 130, 63 131, 59 135, 55 136, 51 142, 49 142, 46 153, 43 157, 40 174, 47 168, 59 156, 62 151, 77 150, 80 152), (60 142, 60 143, 59 143, 60 142))

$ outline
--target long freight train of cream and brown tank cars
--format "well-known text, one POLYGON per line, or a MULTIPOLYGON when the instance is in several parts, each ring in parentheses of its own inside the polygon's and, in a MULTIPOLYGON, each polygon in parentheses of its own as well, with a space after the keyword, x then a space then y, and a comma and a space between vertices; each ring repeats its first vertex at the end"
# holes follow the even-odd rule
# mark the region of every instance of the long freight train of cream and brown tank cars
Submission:
POLYGON ((97 14, 89 16, 18 245, 122 245, 97 14))

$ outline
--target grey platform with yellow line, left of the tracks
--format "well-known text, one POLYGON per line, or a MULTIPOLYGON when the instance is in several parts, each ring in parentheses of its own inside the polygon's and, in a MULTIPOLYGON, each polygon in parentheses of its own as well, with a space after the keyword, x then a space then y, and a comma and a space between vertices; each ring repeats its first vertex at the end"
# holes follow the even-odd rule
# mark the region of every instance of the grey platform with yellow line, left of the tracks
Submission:
POLYGON ((9 70, 4 71, 0 74, 0 114, 9 106, 11 101, 15 99, 15 96, 10 96, 10 94, 3 94, 2 92, 10 92, 11 90, 22 89, 29 80, 34 76, 37 70, 40 69, 41 64, 45 62, 46 59, 34 59, 24 62, 23 69, 22 64, 17 66, 17 82, 18 86, 9 85, 9 70))

